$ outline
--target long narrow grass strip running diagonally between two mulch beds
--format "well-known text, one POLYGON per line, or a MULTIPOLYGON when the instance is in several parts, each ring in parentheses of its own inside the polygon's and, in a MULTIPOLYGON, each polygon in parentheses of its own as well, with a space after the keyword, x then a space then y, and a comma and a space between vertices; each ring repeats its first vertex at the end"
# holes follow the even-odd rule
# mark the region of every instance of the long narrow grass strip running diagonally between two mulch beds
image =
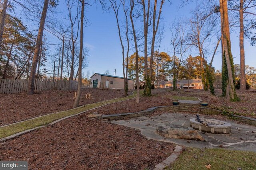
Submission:
MULTIPOLYGON (((141 93, 141 92, 140 92, 141 93)), ((128 100, 128 99, 132 99, 136 96, 135 94, 132 94, 130 96, 126 96, 124 98, 115 98, 112 100, 106 100, 103 102, 98 102, 98 103, 94 103, 94 104, 87 104, 84 106, 80 106, 80 107, 76 107, 74 109, 70 109, 67 111, 60 111, 58 113, 52 113, 50 115, 44 115, 42 117, 38 117, 35 119, 31 119, 31 120, 26 120, 20 123, 16 123, 13 125, 9 125, 6 127, 2 127, 0 128, 0 139, 4 138, 4 137, 8 137, 10 135, 13 135, 15 133, 19 133, 28 129, 32 129, 34 127, 38 127, 38 126, 42 126, 42 125, 47 125, 48 123, 51 123, 53 121, 56 121, 58 119, 61 119, 63 117, 69 116, 69 115, 74 115, 77 113, 81 113, 84 111, 87 111, 89 109, 93 109, 95 107, 100 107, 103 106, 105 104, 112 104, 115 102, 121 102, 124 100, 128 100)))

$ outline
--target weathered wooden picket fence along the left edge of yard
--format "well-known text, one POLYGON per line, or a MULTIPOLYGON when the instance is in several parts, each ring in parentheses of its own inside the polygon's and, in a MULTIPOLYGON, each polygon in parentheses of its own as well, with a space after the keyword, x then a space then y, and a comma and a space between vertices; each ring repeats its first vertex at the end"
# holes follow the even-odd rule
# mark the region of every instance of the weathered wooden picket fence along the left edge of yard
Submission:
MULTIPOLYGON (((36 79, 34 91, 42 90, 77 90, 76 80, 57 80, 57 79, 36 79)), ((11 94, 27 92, 28 80, 0 79, 0 94, 11 94)))

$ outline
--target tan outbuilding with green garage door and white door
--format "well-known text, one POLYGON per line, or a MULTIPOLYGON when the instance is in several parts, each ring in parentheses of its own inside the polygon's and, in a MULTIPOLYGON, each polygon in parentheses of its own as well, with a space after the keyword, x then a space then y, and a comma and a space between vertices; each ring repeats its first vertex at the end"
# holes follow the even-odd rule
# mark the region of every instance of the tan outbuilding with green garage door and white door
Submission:
MULTIPOLYGON (((128 78, 128 89, 133 89, 134 80, 128 78)), ((90 80, 91 88, 124 89, 124 78, 107 74, 94 73, 90 80)))

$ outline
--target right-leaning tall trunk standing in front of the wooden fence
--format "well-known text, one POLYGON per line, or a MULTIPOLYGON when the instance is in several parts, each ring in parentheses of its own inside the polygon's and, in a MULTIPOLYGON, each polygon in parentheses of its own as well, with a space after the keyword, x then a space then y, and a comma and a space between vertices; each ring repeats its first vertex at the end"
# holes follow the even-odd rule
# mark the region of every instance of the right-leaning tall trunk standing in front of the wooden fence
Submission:
POLYGON ((42 16, 40 20, 40 26, 38 30, 37 39, 36 39, 36 47, 34 51, 34 57, 33 57, 32 67, 30 71, 29 81, 28 81, 28 94, 34 94, 34 80, 35 80, 35 74, 36 74, 36 65, 38 62, 39 51, 40 51, 41 42, 42 42, 43 33, 44 33, 44 22, 46 19, 48 4, 49 4, 49 0, 44 0, 44 8, 43 8, 42 16))

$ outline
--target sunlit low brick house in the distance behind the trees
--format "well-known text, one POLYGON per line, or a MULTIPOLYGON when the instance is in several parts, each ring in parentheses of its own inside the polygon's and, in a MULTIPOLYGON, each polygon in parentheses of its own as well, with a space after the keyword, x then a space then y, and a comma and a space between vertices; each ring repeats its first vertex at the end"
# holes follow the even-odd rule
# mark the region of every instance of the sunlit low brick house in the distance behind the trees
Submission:
MULTIPOLYGON (((173 88, 173 82, 172 81, 159 82, 159 88, 173 88)), ((203 89, 202 79, 190 79, 189 85, 188 85, 188 80, 178 80, 177 88, 203 89)))

